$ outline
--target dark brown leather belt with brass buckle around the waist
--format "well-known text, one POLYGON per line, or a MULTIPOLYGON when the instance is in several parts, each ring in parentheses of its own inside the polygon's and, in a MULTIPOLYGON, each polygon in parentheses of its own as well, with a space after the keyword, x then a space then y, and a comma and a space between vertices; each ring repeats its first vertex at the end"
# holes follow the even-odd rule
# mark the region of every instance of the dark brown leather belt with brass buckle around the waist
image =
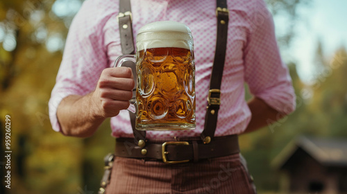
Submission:
POLYGON ((143 146, 132 138, 117 138, 115 156, 135 159, 162 160, 167 164, 198 161, 212 157, 237 154, 239 142, 236 134, 214 137, 210 143, 199 138, 180 138, 180 141, 146 141, 143 146))

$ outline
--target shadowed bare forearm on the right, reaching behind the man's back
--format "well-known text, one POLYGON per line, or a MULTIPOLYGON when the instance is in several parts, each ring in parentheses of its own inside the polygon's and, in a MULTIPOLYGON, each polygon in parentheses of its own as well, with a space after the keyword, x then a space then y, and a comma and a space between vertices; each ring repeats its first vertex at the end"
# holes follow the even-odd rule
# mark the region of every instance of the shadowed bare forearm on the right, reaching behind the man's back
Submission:
POLYGON ((260 98, 252 98, 249 100, 248 107, 251 109, 252 117, 244 133, 258 130, 268 125, 268 121, 277 121, 283 116, 260 98))

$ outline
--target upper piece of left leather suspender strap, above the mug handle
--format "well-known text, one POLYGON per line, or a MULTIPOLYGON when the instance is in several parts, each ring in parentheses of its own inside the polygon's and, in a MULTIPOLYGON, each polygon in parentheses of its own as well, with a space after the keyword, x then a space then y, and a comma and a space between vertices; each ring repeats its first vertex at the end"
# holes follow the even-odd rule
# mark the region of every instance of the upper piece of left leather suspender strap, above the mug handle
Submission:
POLYGON ((133 23, 130 0, 119 0, 119 35, 121 37, 121 53, 124 55, 135 53, 133 40, 133 23))

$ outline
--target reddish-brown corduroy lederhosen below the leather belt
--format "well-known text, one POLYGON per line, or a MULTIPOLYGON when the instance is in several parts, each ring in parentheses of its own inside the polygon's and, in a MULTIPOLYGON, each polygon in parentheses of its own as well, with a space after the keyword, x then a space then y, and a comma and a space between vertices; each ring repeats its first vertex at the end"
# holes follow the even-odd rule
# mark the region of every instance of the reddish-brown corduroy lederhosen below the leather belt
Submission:
POLYGON ((105 193, 254 194, 243 162, 239 154, 172 165, 115 157, 105 193))

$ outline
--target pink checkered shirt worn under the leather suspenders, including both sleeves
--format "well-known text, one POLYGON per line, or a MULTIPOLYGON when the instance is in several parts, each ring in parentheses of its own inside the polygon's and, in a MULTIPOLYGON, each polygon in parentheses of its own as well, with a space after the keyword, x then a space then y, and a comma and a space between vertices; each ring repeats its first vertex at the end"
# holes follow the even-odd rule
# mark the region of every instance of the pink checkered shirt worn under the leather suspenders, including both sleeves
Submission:
MULTIPOLYGON (((203 130, 210 73, 216 46, 216 2, 131 1, 134 36, 153 21, 174 20, 192 30, 196 66, 196 129, 180 132, 147 132, 149 138, 198 136, 203 130)), ((230 21, 226 64, 221 82, 221 107, 215 136, 242 133, 251 118, 244 97, 244 82, 251 93, 279 112, 295 108, 294 89, 280 58, 273 19, 263 0, 228 1, 230 21)), ((119 2, 87 0, 69 29, 56 85, 49 101, 53 130, 60 131, 58 104, 66 96, 94 91, 103 69, 121 55, 116 16, 119 2)), ((112 135, 133 136, 127 110, 111 118, 112 135)))

